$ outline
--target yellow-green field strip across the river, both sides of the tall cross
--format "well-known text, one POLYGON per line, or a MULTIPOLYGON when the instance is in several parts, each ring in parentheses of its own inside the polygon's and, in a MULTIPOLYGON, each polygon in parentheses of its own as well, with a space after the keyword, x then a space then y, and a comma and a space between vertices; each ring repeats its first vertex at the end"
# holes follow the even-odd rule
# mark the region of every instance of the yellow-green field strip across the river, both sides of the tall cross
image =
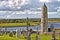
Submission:
MULTIPOLYGON (((30 26, 36 26, 38 23, 31 22, 30 26)), ((0 27, 27 26, 27 23, 1 23, 0 27)))

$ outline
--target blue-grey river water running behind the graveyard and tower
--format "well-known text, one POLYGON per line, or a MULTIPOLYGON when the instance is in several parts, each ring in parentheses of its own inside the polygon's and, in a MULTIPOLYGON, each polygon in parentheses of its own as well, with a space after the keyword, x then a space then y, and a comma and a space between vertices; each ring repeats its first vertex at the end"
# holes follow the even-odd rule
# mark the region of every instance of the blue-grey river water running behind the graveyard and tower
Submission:
MULTIPOLYGON (((60 23, 48 23, 48 28, 50 28, 50 25, 53 24, 55 28, 60 28, 60 23)), ((34 31, 36 31, 38 28, 38 30, 40 30, 41 26, 29 26, 28 29, 32 29, 34 31)), ((0 28, 1 30, 4 31, 16 31, 17 29, 19 29, 20 31, 22 30, 26 30, 26 27, 7 27, 7 28, 0 28)))

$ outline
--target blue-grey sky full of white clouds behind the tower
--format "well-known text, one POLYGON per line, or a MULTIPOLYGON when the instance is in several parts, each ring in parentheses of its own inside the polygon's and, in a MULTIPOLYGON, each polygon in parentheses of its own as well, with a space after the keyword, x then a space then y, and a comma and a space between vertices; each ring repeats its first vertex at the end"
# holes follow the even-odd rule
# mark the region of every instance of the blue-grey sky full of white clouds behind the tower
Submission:
POLYGON ((60 0, 0 0, 0 19, 41 18, 43 3, 49 18, 60 18, 60 0))

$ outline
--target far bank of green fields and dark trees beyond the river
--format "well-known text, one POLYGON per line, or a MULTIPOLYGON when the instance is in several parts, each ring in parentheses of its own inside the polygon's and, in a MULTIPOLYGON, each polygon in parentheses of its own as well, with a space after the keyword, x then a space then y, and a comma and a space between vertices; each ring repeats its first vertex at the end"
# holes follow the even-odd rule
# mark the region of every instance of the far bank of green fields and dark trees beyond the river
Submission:
MULTIPOLYGON (((40 18, 29 18, 29 26, 37 26, 40 24, 40 18)), ((60 18, 49 18, 48 22, 60 22, 60 18)), ((0 19, 0 27, 16 27, 27 26, 26 19, 0 19)))

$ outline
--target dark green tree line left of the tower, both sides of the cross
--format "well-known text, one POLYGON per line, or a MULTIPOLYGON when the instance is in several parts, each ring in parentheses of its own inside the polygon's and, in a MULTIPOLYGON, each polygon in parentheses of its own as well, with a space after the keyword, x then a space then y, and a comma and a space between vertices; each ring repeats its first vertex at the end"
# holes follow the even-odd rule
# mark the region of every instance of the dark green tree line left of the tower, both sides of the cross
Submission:
MULTIPOLYGON (((28 19, 29 22, 38 22, 38 19, 28 19)), ((0 23, 25 23, 26 19, 0 19, 0 23)))

